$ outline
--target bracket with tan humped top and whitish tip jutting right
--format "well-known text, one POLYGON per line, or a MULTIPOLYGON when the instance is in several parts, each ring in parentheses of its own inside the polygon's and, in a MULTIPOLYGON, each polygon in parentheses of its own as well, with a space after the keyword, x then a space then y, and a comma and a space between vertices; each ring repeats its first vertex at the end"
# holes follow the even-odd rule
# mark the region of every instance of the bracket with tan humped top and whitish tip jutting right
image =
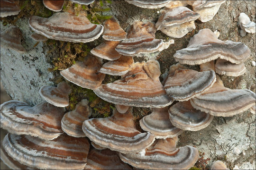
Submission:
POLYGON ((160 52, 174 43, 174 40, 164 42, 162 39, 155 39, 155 32, 155 25, 152 22, 136 22, 130 26, 127 38, 116 47, 116 51, 125 56, 135 56, 160 52))

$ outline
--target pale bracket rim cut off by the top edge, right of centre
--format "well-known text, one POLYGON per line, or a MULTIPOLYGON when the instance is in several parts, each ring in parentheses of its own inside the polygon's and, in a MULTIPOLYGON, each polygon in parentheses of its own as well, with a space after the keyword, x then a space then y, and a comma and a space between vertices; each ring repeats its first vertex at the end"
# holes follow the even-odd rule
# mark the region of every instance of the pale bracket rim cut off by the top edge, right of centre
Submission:
POLYGON ((140 8, 162 8, 172 0, 126 0, 129 4, 133 4, 140 8))

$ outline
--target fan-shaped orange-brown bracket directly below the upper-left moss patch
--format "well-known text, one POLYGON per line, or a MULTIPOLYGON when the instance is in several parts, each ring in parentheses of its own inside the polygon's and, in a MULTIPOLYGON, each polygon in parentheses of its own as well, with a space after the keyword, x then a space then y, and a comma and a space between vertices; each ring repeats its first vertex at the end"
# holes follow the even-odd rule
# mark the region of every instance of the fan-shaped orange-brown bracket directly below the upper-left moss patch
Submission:
POLYGON ((77 61, 73 66, 60 71, 60 74, 83 88, 94 89, 101 85, 105 74, 99 73, 102 64, 98 57, 88 55, 83 61, 77 61))

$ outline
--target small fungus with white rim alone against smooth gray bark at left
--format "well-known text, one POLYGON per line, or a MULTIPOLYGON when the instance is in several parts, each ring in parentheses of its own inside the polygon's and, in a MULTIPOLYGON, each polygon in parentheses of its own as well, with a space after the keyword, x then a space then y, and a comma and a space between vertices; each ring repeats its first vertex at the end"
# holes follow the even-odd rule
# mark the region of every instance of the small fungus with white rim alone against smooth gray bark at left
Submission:
POLYGON ((72 92, 72 89, 66 82, 61 82, 57 87, 44 85, 40 88, 40 96, 46 100, 46 102, 53 104, 57 107, 66 107, 69 105, 68 95, 72 92))

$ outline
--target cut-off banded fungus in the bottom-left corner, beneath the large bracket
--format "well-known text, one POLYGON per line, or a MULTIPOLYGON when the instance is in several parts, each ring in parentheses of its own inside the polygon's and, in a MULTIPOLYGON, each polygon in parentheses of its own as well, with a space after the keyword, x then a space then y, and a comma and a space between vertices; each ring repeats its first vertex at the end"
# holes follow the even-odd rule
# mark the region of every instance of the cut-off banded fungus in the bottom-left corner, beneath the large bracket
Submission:
POLYGON ((28 167, 26 165, 23 165, 23 164, 19 163, 18 161, 15 161, 14 159, 12 159, 12 157, 10 157, 8 155, 8 153, 5 151, 2 141, 1 141, 0 153, 1 153, 1 156, 0 156, 1 160, 12 170, 32 170, 32 169, 35 169, 35 168, 28 167))

